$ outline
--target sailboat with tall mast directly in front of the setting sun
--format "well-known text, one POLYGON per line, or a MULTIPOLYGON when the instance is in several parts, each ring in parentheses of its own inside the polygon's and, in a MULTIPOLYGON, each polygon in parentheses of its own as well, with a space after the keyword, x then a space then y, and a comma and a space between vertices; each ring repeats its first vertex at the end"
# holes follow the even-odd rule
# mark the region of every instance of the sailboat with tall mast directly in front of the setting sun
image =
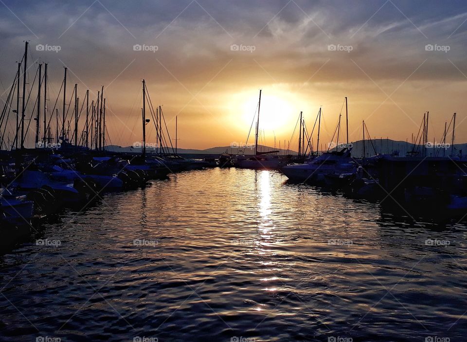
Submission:
POLYGON ((259 134, 259 111, 261 108, 261 90, 259 90, 258 102, 258 118, 256 121, 256 134, 254 142, 254 156, 246 157, 244 155, 237 156, 235 166, 246 169, 279 169, 284 163, 279 159, 278 150, 269 152, 258 151, 258 134, 259 134))

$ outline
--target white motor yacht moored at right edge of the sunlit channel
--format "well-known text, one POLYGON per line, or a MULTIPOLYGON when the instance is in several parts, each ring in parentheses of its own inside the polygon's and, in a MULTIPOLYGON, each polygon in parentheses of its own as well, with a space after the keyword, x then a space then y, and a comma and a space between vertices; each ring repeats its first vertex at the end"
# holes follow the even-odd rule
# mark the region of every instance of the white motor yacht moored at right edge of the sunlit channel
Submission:
POLYGON ((289 180, 324 182, 325 176, 353 174, 357 171, 355 162, 350 157, 351 149, 326 152, 304 164, 284 166, 281 170, 289 180))

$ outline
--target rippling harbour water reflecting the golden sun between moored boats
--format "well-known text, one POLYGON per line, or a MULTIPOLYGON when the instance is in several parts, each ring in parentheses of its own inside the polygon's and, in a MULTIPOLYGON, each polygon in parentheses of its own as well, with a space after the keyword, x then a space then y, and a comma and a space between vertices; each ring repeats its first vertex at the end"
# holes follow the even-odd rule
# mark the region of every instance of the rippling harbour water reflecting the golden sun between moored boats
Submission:
POLYGON ((66 211, 0 256, 0 340, 466 341, 464 224, 286 180, 193 171, 66 211))

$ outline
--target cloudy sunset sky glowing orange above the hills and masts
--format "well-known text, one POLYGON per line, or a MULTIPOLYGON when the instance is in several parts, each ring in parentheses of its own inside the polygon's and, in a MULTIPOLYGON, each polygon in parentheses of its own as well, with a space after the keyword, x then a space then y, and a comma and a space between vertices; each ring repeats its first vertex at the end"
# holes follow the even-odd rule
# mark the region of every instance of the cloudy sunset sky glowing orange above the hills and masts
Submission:
POLYGON ((64 66, 67 98, 74 83, 82 99, 105 87, 108 144, 141 140, 143 78, 172 138, 178 115, 183 148, 244 143, 259 89, 269 145, 274 135, 277 145, 290 139, 300 111, 311 130, 320 106, 327 143, 345 96, 350 141, 361 139, 362 120, 372 136, 410 141, 427 110, 429 140, 441 141, 457 112, 456 142, 467 141, 465 1, 1 0, 0 8, 1 99, 28 40, 28 63, 49 63, 49 107, 64 66))

